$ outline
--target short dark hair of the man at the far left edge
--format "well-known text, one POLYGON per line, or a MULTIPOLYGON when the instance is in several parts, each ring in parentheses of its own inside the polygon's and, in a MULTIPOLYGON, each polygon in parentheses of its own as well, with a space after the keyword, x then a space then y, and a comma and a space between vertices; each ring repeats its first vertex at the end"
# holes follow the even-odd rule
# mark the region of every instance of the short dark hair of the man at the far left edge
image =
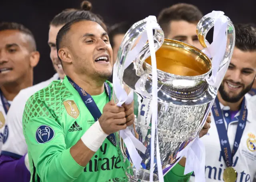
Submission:
POLYGON ((36 51, 36 41, 33 33, 26 28, 24 25, 16 22, 1 22, 0 31, 4 30, 17 30, 31 37, 31 47, 32 51, 36 51))

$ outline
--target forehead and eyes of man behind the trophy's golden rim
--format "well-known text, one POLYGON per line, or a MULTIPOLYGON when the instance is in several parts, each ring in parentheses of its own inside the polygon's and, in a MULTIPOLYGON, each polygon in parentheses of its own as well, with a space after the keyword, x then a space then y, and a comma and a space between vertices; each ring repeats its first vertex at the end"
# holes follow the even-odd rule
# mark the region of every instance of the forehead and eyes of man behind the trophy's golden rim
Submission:
POLYGON ((165 38, 182 41, 202 50, 203 47, 196 35, 196 23, 189 23, 184 20, 171 21, 170 31, 165 33, 165 38))

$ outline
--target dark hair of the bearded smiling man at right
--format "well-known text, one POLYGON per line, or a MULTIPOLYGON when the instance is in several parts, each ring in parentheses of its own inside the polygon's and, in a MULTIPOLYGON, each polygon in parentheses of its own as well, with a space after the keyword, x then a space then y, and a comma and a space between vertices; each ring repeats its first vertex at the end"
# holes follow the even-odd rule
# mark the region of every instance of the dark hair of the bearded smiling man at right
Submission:
POLYGON ((235 46, 242 51, 256 51, 256 29, 250 24, 234 25, 236 32, 235 46))

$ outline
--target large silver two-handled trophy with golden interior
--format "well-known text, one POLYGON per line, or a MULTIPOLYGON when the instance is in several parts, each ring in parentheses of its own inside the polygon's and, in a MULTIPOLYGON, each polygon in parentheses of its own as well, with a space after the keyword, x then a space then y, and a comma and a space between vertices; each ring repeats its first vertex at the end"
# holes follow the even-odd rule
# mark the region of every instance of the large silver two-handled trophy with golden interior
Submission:
MULTIPOLYGON (((227 17, 226 17, 227 18, 227 17)), ((227 45, 220 68, 230 63, 234 49, 235 32, 228 19, 226 29, 227 45)), ((203 17, 198 23, 197 35, 202 46, 208 42, 205 37, 214 26, 214 18, 203 17)), ((152 103, 152 67, 148 43, 144 45, 136 59, 128 67, 125 61, 136 39, 146 30, 146 21, 135 23, 126 33, 118 52, 115 64, 120 84, 129 93, 134 91, 134 114, 136 121, 130 128, 134 136, 147 148, 146 153, 138 151, 142 157, 141 168, 136 171, 129 153, 120 137, 115 133, 118 150, 124 161, 124 170, 131 182, 150 180, 151 114, 158 110, 158 137, 162 170, 170 170, 178 161, 177 154, 199 134, 218 86, 210 86, 206 78, 212 72, 211 59, 201 50, 186 43, 164 39, 161 29, 154 32, 154 47, 158 75, 158 106, 152 103), (129 162, 127 162, 129 161, 129 162)), ((223 79, 223 78, 222 78, 223 79)), ((114 93, 115 96, 115 93, 114 93)), ((114 97, 115 103, 118 102, 114 97)), ((155 145, 156 146, 156 143, 155 145)), ((156 151, 156 150, 155 150, 156 151)), ((154 154, 154 181, 158 181, 156 153, 154 154)))

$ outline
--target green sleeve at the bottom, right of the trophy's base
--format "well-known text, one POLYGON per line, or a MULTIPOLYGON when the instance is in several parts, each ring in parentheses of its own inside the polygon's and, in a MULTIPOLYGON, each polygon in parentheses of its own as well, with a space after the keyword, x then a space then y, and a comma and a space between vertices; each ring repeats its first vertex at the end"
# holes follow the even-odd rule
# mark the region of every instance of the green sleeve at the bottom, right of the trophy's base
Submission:
POLYGON ((164 182, 188 182, 193 172, 184 175, 185 168, 176 164, 165 176, 164 182))

